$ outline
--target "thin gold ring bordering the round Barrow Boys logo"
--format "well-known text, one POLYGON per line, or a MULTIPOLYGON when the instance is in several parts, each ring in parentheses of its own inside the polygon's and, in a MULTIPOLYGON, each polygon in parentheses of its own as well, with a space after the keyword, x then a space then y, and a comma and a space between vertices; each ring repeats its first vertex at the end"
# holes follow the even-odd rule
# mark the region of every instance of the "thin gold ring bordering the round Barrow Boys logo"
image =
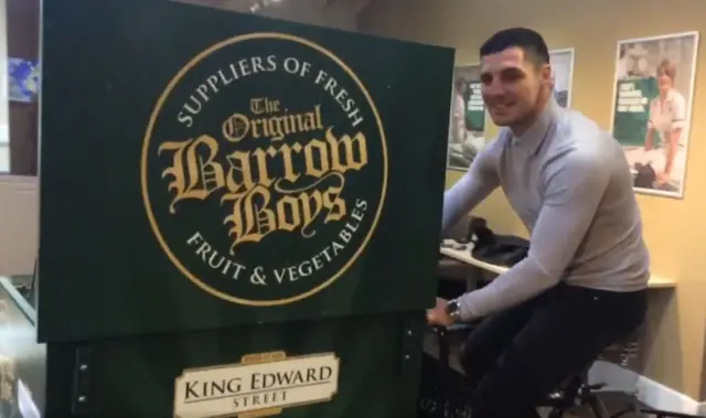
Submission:
POLYGON ((361 82, 361 79, 357 77, 357 75, 355 75, 355 72, 353 72, 353 69, 351 69, 351 67, 349 67, 343 61, 341 61, 341 58, 339 58, 334 53, 332 53, 331 51, 327 50, 325 47, 323 47, 323 46, 321 46, 321 45, 319 45, 319 44, 317 44, 314 42, 308 41, 308 40, 299 37, 299 36, 289 35, 289 34, 286 34, 286 33, 256 32, 256 33, 249 33, 249 34, 245 34, 245 35, 237 35, 237 36, 229 37, 227 40, 221 41, 221 42, 216 43, 215 45, 204 50, 199 55, 194 56, 189 63, 186 63, 186 65, 184 65, 179 71, 179 73, 176 73, 176 75, 169 82, 169 84, 167 85, 167 88, 164 89, 162 95, 157 100, 157 105, 154 106, 154 109, 152 110, 152 115, 150 116, 150 120, 149 120, 149 124, 147 126, 147 130, 145 132, 145 139, 143 139, 143 143, 142 143, 141 162, 140 162, 140 170, 141 170, 140 183, 141 183, 141 186, 142 186, 142 202, 145 203, 145 208, 147 210, 147 217, 149 219, 150 226, 152 227, 152 232, 154 233, 154 236, 157 237, 157 240, 161 245, 162 249, 167 254, 167 257, 169 257, 169 259, 172 261, 172 264, 174 264, 174 266, 176 266, 176 268, 184 276, 186 276, 186 278, 189 278, 189 280, 191 280, 194 285, 196 285, 197 287, 200 287, 202 290, 206 291, 207 293, 210 293, 210 294, 212 294, 212 296, 214 296, 216 298, 233 302, 233 303, 238 303, 238 304, 244 304, 244 306, 249 306, 249 307, 276 307, 276 306, 282 306, 282 304, 289 304, 289 303, 292 303, 292 302, 297 302, 297 301, 300 301, 302 299, 307 299, 307 298, 320 292, 321 290, 323 290, 323 289, 328 288, 329 286, 333 285, 333 282, 336 279, 339 279, 353 265, 353 262, 355 262, 357 260, 357 258, 361 256, 361 253, 363 253, 363 250, 365 249, 365 247, 370 243, 370 240, 371 240, 371 238, 373 236, 373 233, 375 232, 375 229, 377 227, 377 223, 379 221, 381 214, 383 213, 383 206, 385 205, 385 196, 387 194, 387 169, 388 169, 387 142, 386 142, 386 138, 385 138, 385 130, 383 129, 383 121, 382 121, 382 119, 379 117, 379 114, 377 112, 377 107, 375 107, 375 103, 373 101, 370 93, 365 88, 365 85, 363 84, 363 82, 361 82), (167 242, 162 237, 162 234, 159 231, 159 225, 157 224, 157 221, 154 219, 154 214, 152 213, 152 205, 150 203, 150 196, 149 196, 149 193, 148 193, 147 165, 148 165, 149 146, 150 146, 151 137, 152 137, 152 130, 154 129, 154 124, 157 122, 157 119, 159 117, 159 112, 161 111, 162 106, 164 105, 164 101, 167 100, 167 97, 169 97, 171 92, 174 89, 174 86, 176 86, 176 84, 186 74, 186 72, 189 72, 191 68, 193 68, 203 58, 205 58, 206 56, 211 55, 212 53, 214 53, 217 50, 221 50, 221 49, 223 49, 225 46, 228 46, 228 45, 232 45, 232 44, 235 44, 235 43, 239 43, 239 42, 244 42, 244 41, 252 41, 252 40, 281 40, 281 41, 296 42, 296 43, 299 43, 299 44, 304 45, 304 46, 309 46, 309 47, 318 51, 319 53, 328 56, 334 63, 336 63, 341 68, 343 68, 343 71, 345 71, 349 74, 349 76, 351 76, 351 78, 353 78, 353 81, 355 82, 355 84, 357 84, 357 86, 361 89, 361 92, 363 92, 363 95, 365 96, 365 99, 367 100, 367 104, 370 105, 370 107, 371 107, 371 109, 373 111, 373 115, 375 116, 375 121, 376 121, 377 128, 379 130, 381 142, 382 142, 382 148, 383 148, 383 187, 382 187, 381 199, 379 199, 379 202, 378 202, 377 213, 375 214, 375 218, 373 219, 373 224, 371 225, 371 229, 368 231, 367 235, 365 236, 365 239, 363 240, 363 243, 361 244, 359 249, 345 262, 345 265, 343 265, 343 267, 335 275, 333 275, 331 278, 329 278, 327 281, 322 282, 321 285, 319 285, 319 286, 317 286, 317 287, 314 287, 314 288, 312 288, 312 289, 310 289, 310 290, 308 290, 306 292, 299 293, 297 296, 292 296, 290 298, 285 298, 285 299, 275 299, 275 300, 249 300, 249 299, 237 298, 237 297, 234 297, 232 294, 228 294, 228 293, 225 293, 225 292, 222 292, 220 290, 216 290, 216 289, 212 288, 211 286, 204 283, 196 276, 194 276, 186 267, 184 267, 184 265, 179 260, 179 258, 176 256, 174 256, 174 254, 171 251, 169 245, 167 244, 167 242))

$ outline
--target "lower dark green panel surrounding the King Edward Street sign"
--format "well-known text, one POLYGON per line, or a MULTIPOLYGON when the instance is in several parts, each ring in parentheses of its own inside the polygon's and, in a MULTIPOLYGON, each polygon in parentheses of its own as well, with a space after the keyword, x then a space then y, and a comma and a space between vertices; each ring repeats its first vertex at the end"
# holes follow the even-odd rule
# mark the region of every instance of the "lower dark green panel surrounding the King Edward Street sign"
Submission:
MULTIPOLYGON (((76 351, 87 350, 86 418, 172 418, 175 378, 183 369, 239 363, 243 355, 279 351, 287 355, 335 353, 340 358, 338 392, 330 401, 285 407, 281 418, 411 418, 419 385, 424 319, 416 314, 367 315, 280 324, 240 325, 236 329, 180 334, 130 336, 90 344, 49 344, 46 418, 73 417, 72 385, 76 351), (409 333, 407 332, 409 331, 409 333), (68 366, 68 367, 66 367, 68 366)), ((249 376, 248 376, 249 377, 249 376)), ((324 376, 325 377, 325 376, 324 376)), ((237 393, 222 395, 222 404, 236 410, 247 403, 267 405, 286 396, 300 396, 302 386, 276 385, 263 390, 264 378, 244 378, 237 393), (253 388, 253 386, 256 386, 253 388)), ((309 383, 315 385, 317 382, 309 383)), ((314 386, 315 387, 315 386, 314 386)), ((197 395, 203 392, 193 387, 197 395)), ((192 393, 193 394, 193 393, 192 393)), ((214 396, 194 397, 202 410, 213 407, 214 396), (206 399, 208 398, 208 399, 206 399)), ((217 398, 217 397, 215 397, 217 398)), ((217 406, 217 404, 216 404, 217 406)), ((228 409, 226 409, 228 410, 228 409)), ((204 415, 208 418, 216 415, 204 415)))

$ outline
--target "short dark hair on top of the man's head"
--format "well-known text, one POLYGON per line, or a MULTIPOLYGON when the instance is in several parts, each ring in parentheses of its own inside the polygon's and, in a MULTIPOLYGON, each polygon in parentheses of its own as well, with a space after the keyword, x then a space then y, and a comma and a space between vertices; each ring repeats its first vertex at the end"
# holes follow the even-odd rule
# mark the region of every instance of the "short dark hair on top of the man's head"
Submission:
POLYGON ((537 65, 549 63, 549 49, 544 42, 544 37, 527 28, 511 28, 495 32, 481 45, 481 58, 510 47, 523 50, 527 57, 537 65))

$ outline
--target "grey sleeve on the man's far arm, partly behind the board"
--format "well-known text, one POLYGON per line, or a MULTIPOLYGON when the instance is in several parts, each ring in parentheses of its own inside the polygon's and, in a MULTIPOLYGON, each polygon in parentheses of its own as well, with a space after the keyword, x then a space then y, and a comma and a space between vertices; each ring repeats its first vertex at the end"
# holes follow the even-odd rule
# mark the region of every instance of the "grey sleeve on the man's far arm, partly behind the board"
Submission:
POLYGON ((443 194, 441 231, 456 225, 500 184, 493 144, 478 156, 468 172, 443 194))

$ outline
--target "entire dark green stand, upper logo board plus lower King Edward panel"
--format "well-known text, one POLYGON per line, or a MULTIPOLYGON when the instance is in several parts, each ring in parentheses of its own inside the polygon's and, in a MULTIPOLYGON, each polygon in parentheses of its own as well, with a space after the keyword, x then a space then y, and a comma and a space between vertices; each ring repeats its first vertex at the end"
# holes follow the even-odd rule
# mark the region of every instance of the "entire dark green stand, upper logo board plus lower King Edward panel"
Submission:
POLYGON ((165 0, 42 26, 45 416, 411 416, 453 51, 165 0))

